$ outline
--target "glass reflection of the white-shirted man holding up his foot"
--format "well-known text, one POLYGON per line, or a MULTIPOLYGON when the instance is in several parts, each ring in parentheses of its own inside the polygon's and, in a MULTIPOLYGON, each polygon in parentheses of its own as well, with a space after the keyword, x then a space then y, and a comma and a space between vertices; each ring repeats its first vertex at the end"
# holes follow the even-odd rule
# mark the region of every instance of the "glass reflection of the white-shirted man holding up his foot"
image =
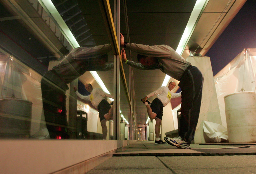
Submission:
POLYGON ((92 105, 98 109, 99 111, 99 117, 100 117, 100 124, 102 127, 102 134, 103 134, 103 140, 106 140, 107 138, 107 120, 112 119, 113 117, 113 106, 111 107, 109 102, 106 101, 106 97, 114 98, 112 95, 104 92, 100 88, 92 88, 91 84, 86 84, 85 89, 90 92, 91 94, 88 96, 82 96, 78 91, 77 88, 74 87, 74 91, 76 92, 77 96, 83 100, 90 100, 92 105))

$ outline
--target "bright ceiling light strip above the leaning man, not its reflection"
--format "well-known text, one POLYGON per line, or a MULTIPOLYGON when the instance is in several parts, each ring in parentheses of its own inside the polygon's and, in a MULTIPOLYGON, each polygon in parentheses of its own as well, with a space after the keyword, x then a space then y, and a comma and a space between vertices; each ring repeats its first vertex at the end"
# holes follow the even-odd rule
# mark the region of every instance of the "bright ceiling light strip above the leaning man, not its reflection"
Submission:
MULTIPOLYGON (((196 4, 191 12, 190 17, 189 17, 187 26, 184 30, 184 33, 179 41, 179 45, 176 49, 176 52, 179 53, 180 55, 182 55, 182 53, 184 51, 184 48, 188 42, 188 39, 191 36, 191 33, 193 32, 196 21, 200 15, 202 8, 204 7, 204 5, 206 3, 206 1, 208 1, 208 0, 197 0, 196 1, 196 4)), ((170 78, 171 78, 170 76, 166 75, 162 86, 166 86, 168 84, 170 78)))

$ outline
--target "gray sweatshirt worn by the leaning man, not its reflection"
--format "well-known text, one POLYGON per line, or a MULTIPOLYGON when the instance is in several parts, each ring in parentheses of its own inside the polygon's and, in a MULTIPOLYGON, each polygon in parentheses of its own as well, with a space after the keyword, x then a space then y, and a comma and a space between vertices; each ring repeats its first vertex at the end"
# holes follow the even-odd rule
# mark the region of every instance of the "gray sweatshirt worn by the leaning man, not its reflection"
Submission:
POLYGON ((128 65, 140 70, 160 69, 162 72, 178 81, 182 77, 187 67, 191 65, 191 63, 187 62, 173 48, 168 45, 148 46, 142 44, 127 43, 126 48, 144 56, 156 57, 158 60, 158 63, 156 65, 150 66, 142 65, 141 63, 135 63, 128 60, 128 65))

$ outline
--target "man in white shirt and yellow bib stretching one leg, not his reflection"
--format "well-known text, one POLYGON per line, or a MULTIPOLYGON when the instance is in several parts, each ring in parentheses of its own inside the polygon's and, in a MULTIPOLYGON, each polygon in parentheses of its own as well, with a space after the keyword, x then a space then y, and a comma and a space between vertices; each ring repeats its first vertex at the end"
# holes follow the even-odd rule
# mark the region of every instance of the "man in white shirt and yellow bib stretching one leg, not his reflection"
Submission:
POLYGON ((181 92, 179 93, 173 93, 171 90, 174 89, 176 86, 175 82, 171 81, 168 85, 162 86, 155 90, 154 92, 151 92, 150 94, 146 95, 141 101, 146 105, 147 113, 149 118, 156 120, 155 125, 155 134, 156 134, 156 140, 155 144, 166 144, 160 139, 160 125, 162 123, 162 117, 163 117, 163 107, 166 106, 168 103, 170 103, 171 98, 177 98, 181 96, 181 92), (147 98, 156 96, 157 97, 152 101, 151 106, 149 106, 149 103, 147 102, 147 98))

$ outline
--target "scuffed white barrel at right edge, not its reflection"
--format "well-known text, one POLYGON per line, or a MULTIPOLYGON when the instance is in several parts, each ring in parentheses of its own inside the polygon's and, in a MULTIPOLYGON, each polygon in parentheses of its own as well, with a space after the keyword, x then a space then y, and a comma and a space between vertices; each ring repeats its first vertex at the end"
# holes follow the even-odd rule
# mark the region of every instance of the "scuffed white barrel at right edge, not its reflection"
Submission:
POLYGON ((232 93, 224 101, 229 142, 256 142, 256 92, 232 93))

